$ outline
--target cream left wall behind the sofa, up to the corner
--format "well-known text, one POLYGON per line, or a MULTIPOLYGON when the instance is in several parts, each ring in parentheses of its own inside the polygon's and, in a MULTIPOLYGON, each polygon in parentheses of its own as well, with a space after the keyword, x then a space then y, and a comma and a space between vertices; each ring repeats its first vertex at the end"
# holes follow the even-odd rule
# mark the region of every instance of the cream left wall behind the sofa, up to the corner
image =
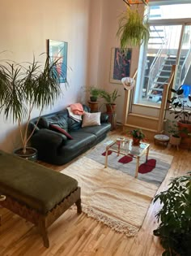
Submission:
MULTIPOLYGON (((17 62, 32 61, 46 52, 46 40, 68 42, 68 73, 70 87, 53 109, 58 111, 73 102, 84 99, 83 86, 87 84, 87 46, 89 2, 91 0, 6 0, 0 7, 0 59, 17 62)), ((32 117, 39 114, 32 113, 32 117)), ((0 149, 12 151, 19 146, 17 125, 6 122, 0 115, 0 149)))

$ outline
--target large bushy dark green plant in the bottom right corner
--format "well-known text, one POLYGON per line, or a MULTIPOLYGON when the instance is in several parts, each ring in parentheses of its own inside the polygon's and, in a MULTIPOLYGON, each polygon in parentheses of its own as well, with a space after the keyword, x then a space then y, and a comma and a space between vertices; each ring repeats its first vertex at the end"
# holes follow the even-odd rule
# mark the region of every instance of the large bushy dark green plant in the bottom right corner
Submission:
POLYGON ((173 178, 154 203, 158 200, 162 205, 155 215, 159 228, 153 233, 160 238, 163 255, 191 255, 191 172, 173 178))

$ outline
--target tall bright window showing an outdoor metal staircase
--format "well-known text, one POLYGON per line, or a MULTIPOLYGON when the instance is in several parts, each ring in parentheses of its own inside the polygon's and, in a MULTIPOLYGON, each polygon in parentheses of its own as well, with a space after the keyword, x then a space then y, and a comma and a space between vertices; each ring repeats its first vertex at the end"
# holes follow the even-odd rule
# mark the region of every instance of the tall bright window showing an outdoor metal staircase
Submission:
POLYGON ((163 85, 168 82, 173 64, 177 65, 175 89, 182 85, 185 89, 183 100, 188 100, 191 94, 190 8, 191 4, 152 3, 151 34, 148 44, 140 50, 134 103, 160 106, 163 85))

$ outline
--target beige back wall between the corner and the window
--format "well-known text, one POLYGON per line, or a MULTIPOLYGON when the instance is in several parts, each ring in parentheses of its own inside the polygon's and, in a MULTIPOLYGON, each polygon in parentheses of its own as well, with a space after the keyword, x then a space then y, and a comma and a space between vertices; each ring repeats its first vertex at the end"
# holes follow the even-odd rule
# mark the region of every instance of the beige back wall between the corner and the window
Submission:
MULTIPOLYGON (((112 92, 118 89, 121 94, 117 98, 117 122, 122 123, 125 91, 122 84, 113 84, 109 81, 111 52, 113 47, 119 47, 117 39, 118 20, 126 5, 122 0, 96 0, 91 2, 91 26, 88 80, 90 85, 96 85, 112 92)), ((140 7, 142 10, 142 7, 140 7)), ((129 47, 130 48, 130 47, 129 47)), ((139 49, 132 51, 130 76, 134 75, 138 67, 139 49)), ((100 103, 100 106, 102 104, 100 103)), ((101 108, 104 111, 103 108, 101 108)))

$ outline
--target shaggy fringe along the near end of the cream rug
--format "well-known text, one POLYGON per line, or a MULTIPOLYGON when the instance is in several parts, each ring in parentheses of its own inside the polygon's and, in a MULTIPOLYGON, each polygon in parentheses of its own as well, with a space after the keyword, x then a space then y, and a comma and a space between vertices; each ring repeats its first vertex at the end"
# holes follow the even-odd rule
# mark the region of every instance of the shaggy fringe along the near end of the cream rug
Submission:
POLYGON ((112 230, 115 230, 120 233, 124 233, 126 236, 136 236, 138 234, 138 228, 134 228, 130 224, 123 223, 121 221, 117 221, 114 219, 109 218, 108 216, 101 214, 100 212, 94 210, 91 207, 83 206, 83 212, 93 219, 104 223, 112 230))

